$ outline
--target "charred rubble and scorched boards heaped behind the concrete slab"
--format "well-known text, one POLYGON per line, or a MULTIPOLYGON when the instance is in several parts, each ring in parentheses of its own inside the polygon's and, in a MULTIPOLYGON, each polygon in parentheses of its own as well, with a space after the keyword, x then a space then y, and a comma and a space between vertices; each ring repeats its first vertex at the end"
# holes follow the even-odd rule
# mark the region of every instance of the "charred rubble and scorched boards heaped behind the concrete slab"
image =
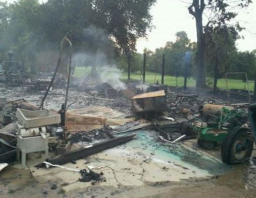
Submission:
MULTIPOLYGON (((44 77, 45 75, 41 74, 41 77, 37 77, 36 84, 35 81, 31 81, 22 88, 0 84, 0 90, 3 90, 0 95, 1 163, 16 160, 17 137, 21 135, 22 125, 17 119, 17 108, 39 110, 42 96, 50 83, 50 79, 44 77)), ((160 140, 171 143, 195 139, 198 134, 193 129, 193 123, 196 119, 202 118, 200 107, 205 104, 227 104, 225 92, 222 91, 216 96, 207 89, 201 90, 198 94, 197 90, 192 88, 185 91, 166 85, 142 85, 137 81, 126 82, 126 90, 115 90, 107 82, 88 80, 87 83, 79 84, 76 78, 70 80, 66 125, 56 123, 46 126, 44 135, 49 135, 49 151, 56 155, 46 161, 60 165, 75 162, 88 155, 81 154, 85 152, 82 148, 70 151, 73 144, 92 146, 93 150, 90 147, 85 149, 91 149, 86 152, 93 154, 132 140, 135 134, 126 134, 136 130, 155 130, 161 137, 160 140), (104 107, 100 108, 104 109, 104 112, 93 111, 94 107, 99 106, 104 107)), ((43 108, 58 115, 65 99, 65 89, 63 78, 57 75, 43 108)), ((235 91, 230 93, 236 95, 235 91)), ((247 107, 242 96, 234 97, 233 100, 239 108, 247 107)), ((29 134, 28 137, 33 135, 35 134, 29 134)), ((36 135, 40 135, 40 132, 36 135)), ((159 141, 157 137, 156 141, 159 141)), ((92 170, 81 170, 80 173, 82 177, 79 181, 104 181, 101 173, 92 170)))

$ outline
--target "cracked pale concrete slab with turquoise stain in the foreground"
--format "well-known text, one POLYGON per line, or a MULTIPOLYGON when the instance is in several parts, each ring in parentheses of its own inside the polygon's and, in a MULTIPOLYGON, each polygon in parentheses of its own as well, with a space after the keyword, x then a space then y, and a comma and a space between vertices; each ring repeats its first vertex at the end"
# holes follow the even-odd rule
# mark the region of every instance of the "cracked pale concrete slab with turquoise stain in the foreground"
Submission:
MULTIPOLYGON (((77 160, 76 164, 68 163, 65 166, 76 169, 84 169, 85 165, 95 168, 101 167, 94 171, 103 172, 106 182, 96 183, 94 186, 112 186, 114 188, 147 186, 148 184, 174 182, 213 175, 208 170, 184 163, 180 156, 171 153, 171 148, 168 147, 169 144, 156 143, 154 137, 156 136, 153 131, 140 131, 137 139, 127 144, 89 156, 86 160, 77 160), (153 141, 155 144, 152 144, 153 141)), ((183 146, 177 144, 176 147, 179 147, 181 152, 186 153, 183 150, 183 146)), ((215 163, 210 158, 207 160, 215 163)), ((218 168, 216 167, 216 169, 218 168)), ((66 193, 92 186, 90 182, 83 183, 78 181, 80 174, 77 172, 55 167, 48 170, 36 169, 32 166, 31 171, 35 179, 40 183, 56 180, 60 185, 65 184, 62 188, 66 193)))

